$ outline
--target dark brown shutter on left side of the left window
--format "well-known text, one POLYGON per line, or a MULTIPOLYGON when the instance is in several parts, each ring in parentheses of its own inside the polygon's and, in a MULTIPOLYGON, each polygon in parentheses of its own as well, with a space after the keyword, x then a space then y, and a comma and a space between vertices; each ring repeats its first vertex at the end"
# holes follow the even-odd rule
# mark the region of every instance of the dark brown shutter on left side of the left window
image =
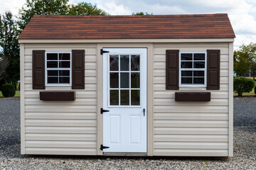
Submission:
POLYGON ((45 51, 33 50, 33 89, 46 89, 45 51))

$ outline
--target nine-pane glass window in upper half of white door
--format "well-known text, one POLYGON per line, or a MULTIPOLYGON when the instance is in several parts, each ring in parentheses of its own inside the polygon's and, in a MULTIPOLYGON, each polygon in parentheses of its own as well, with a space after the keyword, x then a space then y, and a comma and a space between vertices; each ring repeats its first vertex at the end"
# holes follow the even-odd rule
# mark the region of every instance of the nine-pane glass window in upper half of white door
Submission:
POLYGON ((110 55, 110 106, 140 106, 140 55, 110 55))

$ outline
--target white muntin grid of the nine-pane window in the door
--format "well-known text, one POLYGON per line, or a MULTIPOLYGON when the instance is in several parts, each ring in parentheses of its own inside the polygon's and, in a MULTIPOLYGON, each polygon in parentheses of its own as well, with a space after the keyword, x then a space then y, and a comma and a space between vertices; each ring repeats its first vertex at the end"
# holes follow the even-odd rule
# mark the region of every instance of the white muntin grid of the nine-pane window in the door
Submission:
MULTIPOLYGON (((142 85, 141 85, 141 79, 142 79, 142 74, 141 74, 141 70, 142 70, 142 62, 140 61, 139 62, 139 71, 131 71, 131 55, 130 54, 118 54, 118 71, 111 71, 110 70, 110 56, 111 55, 117 55, 117 54, 110 54, 110 55, 108 55, 108 59, 109 59, 109 61, 108 61, 108 65, 109 65, 109 67, 108 67, 108 79, 109 79, 109 83, 108 83, 108 105, 110 106, 110 107, 127 107, 127 106, 129 106, 129 107, 139 107, 139 106, 141 106, 142 105, 142 90, 141 90, 141 87, 142 87, 142 85), (120 65, 120 63, 121 63, 121 60, 120 60, 120 55, 128 55, 129 56, 129 71, 121 71, 121 65, 120 65), (121 79, 120 79, 120 77, 121 77, 121 73, 122 72, 129 72, 129 88, 121 88, 121 79), (118 79, 118 88, 110 88, 110 73, 119 73, 118 74, 118 77, 119 77, 119 79, 118 79), (139 88, 131 88, 131 73, 139 73, 139 88), (110 90, 118 90, 119 91, 119 105, 117 106, 117 105, 110 105, 110 90), (121 105, 121 90, 129 90, 129 105, 121 105), (132 104, 132 98, 131 98, 131 91, 132 90, 139 90, 139 105, 137 105, 137 106, 134 106, 134 105, 131 105, 132 104)), ((132 55, 139 55, 139 54, 132 54, 132 55)), ((141 55, 139 55, 139 60, 141 60, 141 55)))

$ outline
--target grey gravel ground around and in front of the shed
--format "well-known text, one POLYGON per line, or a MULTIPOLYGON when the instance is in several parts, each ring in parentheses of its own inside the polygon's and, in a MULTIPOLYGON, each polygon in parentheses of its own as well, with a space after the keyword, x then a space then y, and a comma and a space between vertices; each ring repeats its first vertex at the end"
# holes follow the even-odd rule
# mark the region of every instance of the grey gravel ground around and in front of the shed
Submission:
POLYGON ((256 98, 234 99, 234 157, 46 157, 20 153, 19 98, 0 98, 0 169, 256 169, 256 98))

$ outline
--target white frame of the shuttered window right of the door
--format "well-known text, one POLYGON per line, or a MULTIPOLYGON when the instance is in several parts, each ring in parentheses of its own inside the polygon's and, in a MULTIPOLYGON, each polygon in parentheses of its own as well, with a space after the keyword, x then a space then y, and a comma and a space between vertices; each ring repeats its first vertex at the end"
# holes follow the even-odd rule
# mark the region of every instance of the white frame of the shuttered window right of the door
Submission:
MULTIPOLYGON (((184 60, 183 60, 184 61, 184 60)), ((185 60, 187 61, 187 60, 185 60)), ((191 62, 193 62, 194 60, 190 60, 191 62)), ((203 60, 196 60, 198 62, 201 62, 203 60)), ((193 63, 192 63, 192 67, 193 67, 193 63)), ((179 52, 179 86, 181 87, 206 87, 207 85, 207 52, 179 52), (181 54, 205 54, 205 68, 198 68, 198 69, 194 69, 194 68, 181 68, 181 54), (204 84, 181 84, 181 71, 204 71, 204 84)))

